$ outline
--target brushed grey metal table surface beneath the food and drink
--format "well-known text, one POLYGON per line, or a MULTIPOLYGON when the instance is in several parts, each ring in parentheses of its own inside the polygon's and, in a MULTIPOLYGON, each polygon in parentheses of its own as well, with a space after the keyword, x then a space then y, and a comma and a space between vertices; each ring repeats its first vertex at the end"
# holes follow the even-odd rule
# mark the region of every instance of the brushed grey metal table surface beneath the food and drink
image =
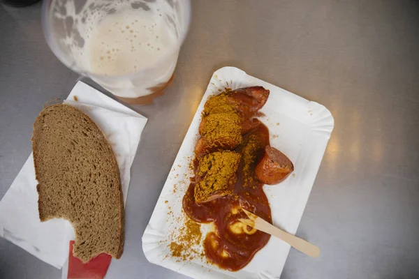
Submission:
MULTIPOLYGON (((41 5, 0 6, 0 197, 31 152, 44 103, 78 75, 45 43, 41 5)), ((419 278, 419 1, 194 1, 166 95, 132 167, 126 243, 107 278, 185 278, 149 264, 141 236, 214 70, 236 66, 328 107, 335 130, 281 278, 419 278)), ((0 278, 61 271, 0 239, 0 278)))

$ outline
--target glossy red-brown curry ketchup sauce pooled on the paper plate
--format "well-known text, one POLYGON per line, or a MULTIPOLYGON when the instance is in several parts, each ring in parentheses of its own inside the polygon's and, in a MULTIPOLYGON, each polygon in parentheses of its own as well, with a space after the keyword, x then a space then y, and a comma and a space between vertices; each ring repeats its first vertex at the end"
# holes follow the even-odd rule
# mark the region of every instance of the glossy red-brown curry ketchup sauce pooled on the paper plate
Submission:
MULTIPOLYGON (((256 162, 263 155, 265 146, 269 144, 269 130, 262 123, 244 135, 242 143, 235 149, 242 154, 242 158, 232 195, 198 204, 194 199, 196 184, 193 181, 184 195, 183 209, 189 218, 198 223, 214 223, 215 232, 210 232, 205 237, 204 249, 207 259, 221 269, 242 269, 270 238, 269 234, 237 220, 247 218, 241 210, 243 208, 272 223, 263 183, 260 183, 254 174, 256 162)), ((195 160, 194 167, 197 165, 195 160)))

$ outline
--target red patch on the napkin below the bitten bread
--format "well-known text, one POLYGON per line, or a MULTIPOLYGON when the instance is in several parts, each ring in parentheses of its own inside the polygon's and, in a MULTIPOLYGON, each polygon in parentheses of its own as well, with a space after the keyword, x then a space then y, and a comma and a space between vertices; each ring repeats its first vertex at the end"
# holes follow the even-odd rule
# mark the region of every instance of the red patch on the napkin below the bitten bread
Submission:
POLYGON ((67 279, 103 279, 110 264, 112 256, 101 254, 94 257, 87 264, 80 259, 73 257, 73 243, 70 241, 70 252, 68 253, 68 274, 67 279))

